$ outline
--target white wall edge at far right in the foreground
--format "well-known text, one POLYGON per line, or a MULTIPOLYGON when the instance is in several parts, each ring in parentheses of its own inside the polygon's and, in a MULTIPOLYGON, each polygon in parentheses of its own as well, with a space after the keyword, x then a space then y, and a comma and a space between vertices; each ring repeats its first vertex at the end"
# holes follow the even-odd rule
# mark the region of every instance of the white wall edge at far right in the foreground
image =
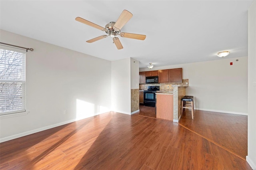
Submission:
POLYGON ((256 1, 248 10, 248 156, 256 169, 256 1))

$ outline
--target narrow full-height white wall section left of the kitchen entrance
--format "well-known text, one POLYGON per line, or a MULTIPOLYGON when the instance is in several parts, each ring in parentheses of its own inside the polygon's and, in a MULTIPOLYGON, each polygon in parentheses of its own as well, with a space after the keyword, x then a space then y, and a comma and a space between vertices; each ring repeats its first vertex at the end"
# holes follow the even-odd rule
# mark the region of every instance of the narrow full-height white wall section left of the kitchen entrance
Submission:
POLYGON ((131 115, 130 58, 111 62, 112 111, 131 115))

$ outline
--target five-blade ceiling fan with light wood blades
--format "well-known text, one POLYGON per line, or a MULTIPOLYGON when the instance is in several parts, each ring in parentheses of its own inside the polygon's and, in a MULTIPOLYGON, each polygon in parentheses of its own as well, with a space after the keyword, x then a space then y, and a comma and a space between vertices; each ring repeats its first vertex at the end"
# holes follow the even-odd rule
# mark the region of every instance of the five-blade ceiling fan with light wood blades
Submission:
POLYGON ((99 36, 96 38, 93 38, 91 40, 88 40, 86 42, 92 43, 96 42, 98 40, 101 40, 103 38, 106 38, 108 36, 113 38, 113 43, 115 43, 117 49, 122 49, 123 46, 116 36, 121 36, 124 38, 132 38, 132 39, 137 39, 137 40, 145 40, 146 36, 142 34, 132 34, 132 33, 126 33, 126 32, 120 32, 121 28, 132 18, 132 13, 130 13, 127 10, 123 10, 122 14, 119 16, 116 22, 110 22, 108 23, 105 28, 98 26, 97 24, 94 24, 90 21, 87 21, 83 18, 76 17, 76 21, 82 22, 88 26, 92 26, 94 28, 97 28, 99 30, 102 30, 107 33, 107 35, 99 36))

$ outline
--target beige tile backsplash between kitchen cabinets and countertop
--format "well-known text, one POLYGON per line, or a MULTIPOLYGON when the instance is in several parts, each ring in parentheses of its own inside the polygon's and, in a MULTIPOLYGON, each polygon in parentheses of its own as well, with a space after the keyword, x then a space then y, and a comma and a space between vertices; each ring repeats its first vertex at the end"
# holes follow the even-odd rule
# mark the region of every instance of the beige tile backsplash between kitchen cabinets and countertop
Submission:
POLYGON ((147 90, 148 86, 160 86, 160 91, 172 91, 173 85, 188 86, 188 79, 182 79, 182 83, 152 83, 152 84, 140 84, 140 90, 147 90), (169 86, 169 87, 168 87, 169 86))

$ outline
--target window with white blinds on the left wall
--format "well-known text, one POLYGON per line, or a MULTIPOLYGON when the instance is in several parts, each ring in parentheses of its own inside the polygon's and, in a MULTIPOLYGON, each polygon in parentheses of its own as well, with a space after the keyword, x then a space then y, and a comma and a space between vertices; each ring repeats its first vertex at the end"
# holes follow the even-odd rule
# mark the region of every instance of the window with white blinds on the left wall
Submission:
POLYGON ((25 57, 0 48, 0 115, 26 111, 25 57))

